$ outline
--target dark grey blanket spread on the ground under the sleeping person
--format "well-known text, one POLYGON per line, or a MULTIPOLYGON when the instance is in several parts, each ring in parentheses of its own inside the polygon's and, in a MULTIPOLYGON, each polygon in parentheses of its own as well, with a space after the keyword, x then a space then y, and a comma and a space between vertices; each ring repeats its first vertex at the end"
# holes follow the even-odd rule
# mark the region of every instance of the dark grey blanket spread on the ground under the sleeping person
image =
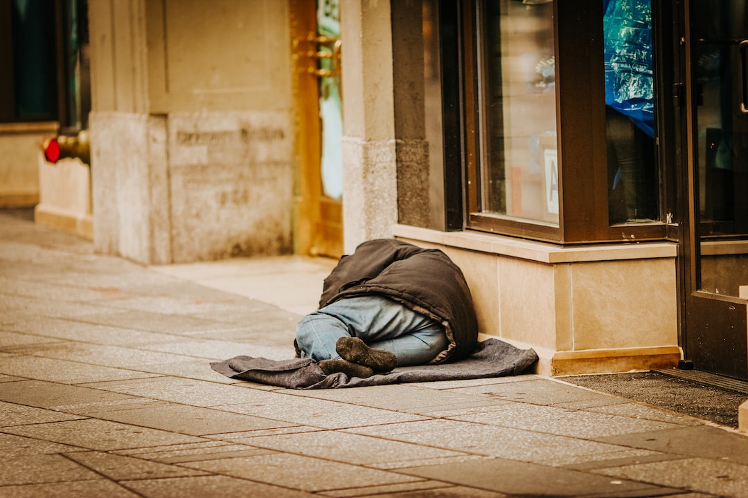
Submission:
POLYGON ((236 356, 210 366, 232 379, 243 379, 292 389, 330 389, 333 387, 361 387, 365 385, 399 384, 405 382, 435 382, 460 379, 515 376, 538 361, 533 349, 519 349, 502 340, 487 339, 478 343, 468 358, 455 363, 398 367, 390 373, 366 379, 349 378, 344 373, 326 376, 315 361, 308 358, 269 360, 236 356))

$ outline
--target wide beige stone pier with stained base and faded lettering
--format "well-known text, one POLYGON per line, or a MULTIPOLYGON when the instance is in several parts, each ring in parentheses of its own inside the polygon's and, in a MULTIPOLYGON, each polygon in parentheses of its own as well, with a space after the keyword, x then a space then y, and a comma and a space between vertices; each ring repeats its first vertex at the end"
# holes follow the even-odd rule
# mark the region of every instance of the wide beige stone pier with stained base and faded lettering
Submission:
POLYGON ((89 3, 96 251, 144 264, 291 252, 288 8, 89 3))

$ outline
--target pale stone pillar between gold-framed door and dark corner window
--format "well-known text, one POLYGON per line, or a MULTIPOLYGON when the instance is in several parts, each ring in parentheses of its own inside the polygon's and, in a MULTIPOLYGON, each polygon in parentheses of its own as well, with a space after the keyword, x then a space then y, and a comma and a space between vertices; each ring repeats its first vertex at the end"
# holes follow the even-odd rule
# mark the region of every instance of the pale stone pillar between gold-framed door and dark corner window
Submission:
POLYGON ((391 237, 397 222, 392 30, 389 1, 341 4, 343 250, 391 237))

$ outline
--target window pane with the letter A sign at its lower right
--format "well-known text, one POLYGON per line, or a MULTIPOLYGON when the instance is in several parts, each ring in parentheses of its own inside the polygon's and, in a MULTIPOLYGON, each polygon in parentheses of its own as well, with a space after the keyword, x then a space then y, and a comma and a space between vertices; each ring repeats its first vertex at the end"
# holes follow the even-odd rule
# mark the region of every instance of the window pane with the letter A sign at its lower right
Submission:
POLYGON ((487 1, 477 16, 482 213, 557 224, 553 3, 487 1))

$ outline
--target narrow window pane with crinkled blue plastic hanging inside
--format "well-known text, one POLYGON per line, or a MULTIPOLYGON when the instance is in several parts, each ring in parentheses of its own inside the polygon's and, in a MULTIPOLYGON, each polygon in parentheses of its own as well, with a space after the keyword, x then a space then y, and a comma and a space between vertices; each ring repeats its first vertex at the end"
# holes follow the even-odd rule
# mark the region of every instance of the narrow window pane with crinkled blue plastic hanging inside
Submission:
POLYGON ((611 224, 651 222, 659 213, 652 0, 603 1, 608 215, 611 224))

